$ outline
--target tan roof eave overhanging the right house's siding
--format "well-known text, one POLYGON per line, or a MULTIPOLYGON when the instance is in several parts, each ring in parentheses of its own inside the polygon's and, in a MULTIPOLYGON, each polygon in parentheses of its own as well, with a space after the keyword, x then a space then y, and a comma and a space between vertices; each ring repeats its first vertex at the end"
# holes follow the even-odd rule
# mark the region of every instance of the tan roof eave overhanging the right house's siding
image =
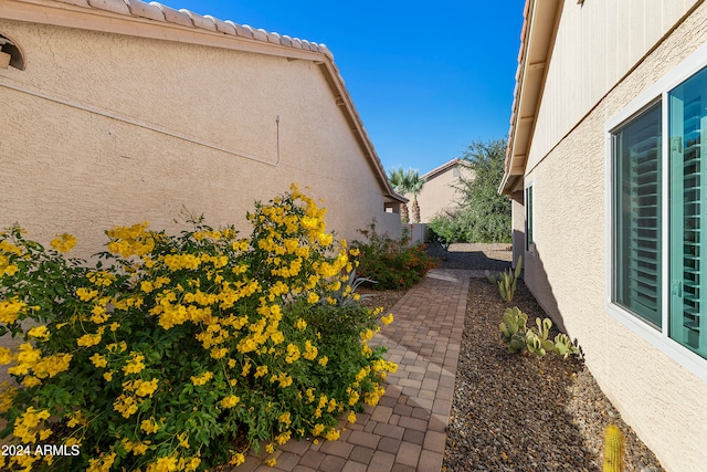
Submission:
POLYGON ((500 193, 509 195, 523 189, 529 145, 542 99, 561 3, 560 0, 526 0, 505 174, 498 188, 500 193))

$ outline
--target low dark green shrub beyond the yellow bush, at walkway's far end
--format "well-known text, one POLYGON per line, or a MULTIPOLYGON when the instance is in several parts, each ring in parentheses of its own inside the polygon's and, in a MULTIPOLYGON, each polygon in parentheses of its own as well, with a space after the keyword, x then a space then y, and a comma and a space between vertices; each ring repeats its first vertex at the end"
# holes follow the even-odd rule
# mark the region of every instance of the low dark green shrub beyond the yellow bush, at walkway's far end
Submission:
POLYGON ((407 232, 401 239, 379 234, 376 221, 359 232, 365 240, 351 243, 357 254, 358 271, 376 281, 376 290, 410 289, 436 266, 436 260, 425 253, 424 244, 410 245, 407 232))

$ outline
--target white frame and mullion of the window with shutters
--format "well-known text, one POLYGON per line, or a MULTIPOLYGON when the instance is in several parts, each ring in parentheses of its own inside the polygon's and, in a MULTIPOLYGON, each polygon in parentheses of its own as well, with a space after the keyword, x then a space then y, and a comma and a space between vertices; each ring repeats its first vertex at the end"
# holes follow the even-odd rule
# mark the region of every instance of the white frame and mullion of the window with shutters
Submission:
POLYGON ((668 73, 661 77, 655 84, 635 97, 626 107, 613 115, 604 126, 604 188, 605 188, 605 248, 606 248, 606 265, 605 265, 605 306, 606 312, 626 326, 629 329, 641 336, 643 339, 655 346, 663 354, 685 367, 688 371, 707 381, 707 359, 693 353, 678 342, 668 337, 669 329, 669 165, 665 160, 665 156, 669 153, 668 136, 668 116, 667 116, 667 94, 669 91, 685 82, 692 75, 707 66, 707 44, 700 46, 687 59, 673 67, 668 73), (613 268, 614 248, 614 209, 613 209, 613 156, 612 156, 612 133, 626 124, 632 118, 640 115, 644 109, 654 104, 656 101, 662 102, 662 149, 663 149, 663 192, 662 192, 662 306, 663 327, 656 329, 654 326, 645 323, 641 317, 632 314, 625 308, 612 302, 613 291, 613 268))

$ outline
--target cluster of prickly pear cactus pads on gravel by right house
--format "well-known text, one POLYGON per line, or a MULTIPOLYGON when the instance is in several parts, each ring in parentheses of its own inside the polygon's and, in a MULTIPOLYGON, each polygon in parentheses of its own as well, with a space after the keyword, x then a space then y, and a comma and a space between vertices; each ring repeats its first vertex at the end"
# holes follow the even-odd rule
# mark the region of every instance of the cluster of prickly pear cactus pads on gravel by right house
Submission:
POLYGON ((528 328, 528 315, 517 306, 507 308, 504 321, 498 325, 500 339, 508 345, 510 354, 529 353, 544 357, 547 353, 556 353, 567 359, 570 354, 579 354, 580 350, 566 334, 555 336, 555 342, 549 339, 552 321, 550 318, 536 318, 536 326, 528 328))

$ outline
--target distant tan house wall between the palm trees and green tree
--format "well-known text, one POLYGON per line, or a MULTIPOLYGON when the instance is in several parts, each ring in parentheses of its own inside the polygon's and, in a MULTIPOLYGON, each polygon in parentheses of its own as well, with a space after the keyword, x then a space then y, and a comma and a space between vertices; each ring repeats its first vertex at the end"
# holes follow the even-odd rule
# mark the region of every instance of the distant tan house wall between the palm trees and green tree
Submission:
MULTIPOLYGON (((458 185, 460 175, 465 178, 473 177, 469 169, 458 165, 436 174, 425 181, 418 196, 420 222, 429 223, 437 213, 451 211, 457 207, 460 196, 454 187, 458 185)), ((410 208, 410 218, 412 218, 412 196, 407 195, 405 197, 410 199, 408 208, 410 208)))

